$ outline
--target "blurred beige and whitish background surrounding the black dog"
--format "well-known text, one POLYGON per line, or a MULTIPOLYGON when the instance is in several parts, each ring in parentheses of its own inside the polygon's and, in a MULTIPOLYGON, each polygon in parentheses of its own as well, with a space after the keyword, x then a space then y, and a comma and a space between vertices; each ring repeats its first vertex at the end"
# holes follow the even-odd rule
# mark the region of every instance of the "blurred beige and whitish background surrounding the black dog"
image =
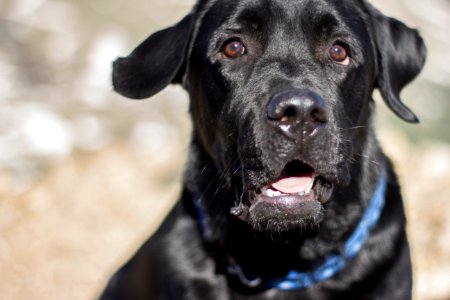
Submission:
MULTIPOLYGON (((177 199, 186 94, 124 99, 110 66, 193 3, 0 0, 0 299, 95 299, 177 199)), ((415 299, 450 299, 450 1, 372 3, 428 45, 402 94, 421 123, 377 100, 377 128, 403 184, 415 299)))

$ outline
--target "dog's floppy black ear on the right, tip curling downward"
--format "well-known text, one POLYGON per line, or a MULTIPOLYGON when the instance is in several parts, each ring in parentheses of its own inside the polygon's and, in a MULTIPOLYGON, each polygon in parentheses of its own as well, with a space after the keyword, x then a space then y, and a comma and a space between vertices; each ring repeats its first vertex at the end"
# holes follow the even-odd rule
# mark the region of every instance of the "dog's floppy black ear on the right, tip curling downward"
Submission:
POLYGON ((377 86, 389 108, 401 119, 417 123, 415 114, 400 100, 400 91, 419 74, 426 47, 415 29, 389 18, 364 1, 372 18, 378 57, 377 86))

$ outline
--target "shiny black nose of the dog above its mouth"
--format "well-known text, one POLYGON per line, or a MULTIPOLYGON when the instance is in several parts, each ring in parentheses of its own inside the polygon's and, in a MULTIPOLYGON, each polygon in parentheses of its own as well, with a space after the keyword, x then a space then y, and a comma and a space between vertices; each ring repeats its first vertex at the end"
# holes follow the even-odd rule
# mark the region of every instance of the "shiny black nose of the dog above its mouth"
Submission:
POLYGON ((289 137, 311 135, 327 123, 322 97, 307 90, 288 90, 275 94, 267 104, 268 121, 289 137))

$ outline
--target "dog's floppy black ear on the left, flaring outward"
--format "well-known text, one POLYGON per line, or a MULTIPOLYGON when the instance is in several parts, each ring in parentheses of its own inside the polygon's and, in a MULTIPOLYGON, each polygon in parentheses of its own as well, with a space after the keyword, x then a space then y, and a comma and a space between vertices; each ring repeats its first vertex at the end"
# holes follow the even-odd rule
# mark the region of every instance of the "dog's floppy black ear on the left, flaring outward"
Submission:
POLYGON ((170 83, 181 83, 193 14, 144 40, 127 57, 113 63, 114 90, 133 99, 153 96, 170 83))

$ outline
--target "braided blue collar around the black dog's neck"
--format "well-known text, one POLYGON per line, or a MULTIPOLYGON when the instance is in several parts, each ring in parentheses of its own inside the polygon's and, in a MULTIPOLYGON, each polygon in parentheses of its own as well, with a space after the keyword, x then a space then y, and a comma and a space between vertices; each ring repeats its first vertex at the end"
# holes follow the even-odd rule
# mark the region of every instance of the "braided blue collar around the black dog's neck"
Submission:
MULTIPOLYGON (((298 272, 296 270, 290 271, 283 278, 275 278, 266 282, 263 282, 261 278, 248 279, 241 267, 230 258, 230 265, 228 266, 228 273, 235 275, 239 278, 241 283, 250 288, 275 288, 283 291, 292 291, 305 289, 312 286, 315 283, 327 280, 340 270, 342 270, 346 263, 358 254, 363 247, 369 232, 375 227, 380 219, 381 212, 384 207, 385 193, 387 187, 386 175, 382 174, 378 181, 376 190, 372 196, 369 206, 364 212, 359 224, 355 228, 355 231, 348 238, 344 245, 343 253, 340 255, 332 255, 325 259, 325 262, 318 266, 311 272, 298 272)), ((198 198, 196 199, 198 200, 198 198)), ((200 226, 203 227, 204 215, 197 204, 197 213, 199 214, 200 226)))

